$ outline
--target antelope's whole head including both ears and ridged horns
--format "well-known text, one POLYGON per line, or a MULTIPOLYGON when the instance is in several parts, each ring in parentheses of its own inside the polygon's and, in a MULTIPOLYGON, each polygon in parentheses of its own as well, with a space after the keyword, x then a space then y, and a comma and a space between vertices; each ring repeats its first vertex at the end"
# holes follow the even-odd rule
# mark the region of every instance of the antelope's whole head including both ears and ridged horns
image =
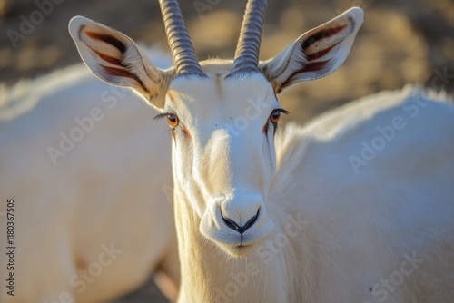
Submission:
POLYGON ((173 54, 169 70, 156 68, 130 38, 102 24, 77 16, 69 30, 99 78, 133 88, 162 112, 173 137, 176 199, 193 210, 194 228, 204 237, 242 256, 273 229, 267 205, 276 171, 274 132, 286 113, 276 93, 336 70, 364 15, 352 8, 260 63, 266 0, 250 0, 234 60, 199 62, 176 0, 160 5, 173 54))

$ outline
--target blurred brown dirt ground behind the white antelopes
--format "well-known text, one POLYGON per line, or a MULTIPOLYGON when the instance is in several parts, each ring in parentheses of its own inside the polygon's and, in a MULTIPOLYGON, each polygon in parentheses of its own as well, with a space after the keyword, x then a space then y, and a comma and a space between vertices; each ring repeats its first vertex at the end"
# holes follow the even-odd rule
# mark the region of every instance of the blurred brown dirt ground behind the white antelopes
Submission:
MULTIPOLYGON (((11 85, 81 60, 67 34, 74 15, 84 15, 146 45, 167 50, 157 1, 0 0, 0 83, 11 85), (58 4, 56 4, 58 3, 58 4), (41 10, 43 10, 41 8, 41 10), (33 28, 24 20, 35 18, 33 28), (36 19, 38 18, 38 19, 36 19), (21 30, 21 24, 22 30, 21 30), (25 29, 25 30, 24 30, 25 29), (13 33, 17 34, 13 34, 13 33)), ((199 58, 232 57, 245 1, 181 0, 199 58)), ((357 5, 366 12, 350 56, 330 76, 282 93, 290 120, 311 117, 366 94, 423 83, 454 90, 452 0, 270 0, 262 38, 262 60, 278 54, 300 34, 357 5)), ((32 20, 32 21, 33 21, 32 20)), ((118 302, 163 302, 150 282, 118 302)))

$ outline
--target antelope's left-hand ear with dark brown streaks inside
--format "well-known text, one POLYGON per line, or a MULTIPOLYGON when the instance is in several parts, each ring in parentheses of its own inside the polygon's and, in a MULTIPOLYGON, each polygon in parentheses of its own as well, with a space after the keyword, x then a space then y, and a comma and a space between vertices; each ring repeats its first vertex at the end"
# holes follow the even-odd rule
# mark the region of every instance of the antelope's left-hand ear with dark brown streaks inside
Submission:
POLYGON ((69 22, 69 32, 88 68, 106 83, 130 87, 158 109, 173 73, 155 67, 128 36, 82 16, 69 22))

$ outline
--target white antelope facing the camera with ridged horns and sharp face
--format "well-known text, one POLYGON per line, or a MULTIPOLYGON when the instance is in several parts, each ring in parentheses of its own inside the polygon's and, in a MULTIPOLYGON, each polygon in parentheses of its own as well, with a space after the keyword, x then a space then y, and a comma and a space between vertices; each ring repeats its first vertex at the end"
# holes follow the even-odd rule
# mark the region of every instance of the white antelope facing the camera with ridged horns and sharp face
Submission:
POLYGON ((450 104, 383 93, 287 129, 274 148, 285 112, 276 93, 341 65, 360 8, 259 63, 266 1, 249 1, 234 60, 199 63, 176 1, 160 5, 166 71, 102 24, 69 27, 98 77, 133 88, 170 124, 179 301, 454 298, 450 104))

